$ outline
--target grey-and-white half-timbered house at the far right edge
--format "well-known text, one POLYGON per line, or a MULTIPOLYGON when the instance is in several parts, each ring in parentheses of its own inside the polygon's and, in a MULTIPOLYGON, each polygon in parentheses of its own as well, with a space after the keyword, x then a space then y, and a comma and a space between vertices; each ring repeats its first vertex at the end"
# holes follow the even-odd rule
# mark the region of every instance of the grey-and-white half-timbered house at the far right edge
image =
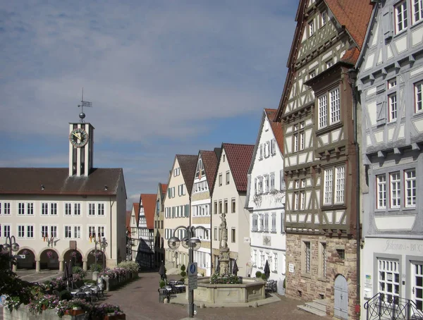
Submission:
POLYGON ((362 313, 423 317, 422 1, 375 1, 357 63, 362 104, 362 313), (410 307, 404 308, 408 304, 410 307), (364 310, 363 310, 364 311, 364 310), (382 312, 387 312, 386 309, 382 312))

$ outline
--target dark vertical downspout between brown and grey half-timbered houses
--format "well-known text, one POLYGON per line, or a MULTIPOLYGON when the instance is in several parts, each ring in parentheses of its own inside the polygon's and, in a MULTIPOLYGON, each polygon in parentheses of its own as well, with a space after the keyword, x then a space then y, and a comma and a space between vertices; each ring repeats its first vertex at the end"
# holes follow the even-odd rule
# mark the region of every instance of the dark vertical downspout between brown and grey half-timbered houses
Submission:
POLYGON ((357 70, 351 68, 348 70, 350 83, 351 83, 351 91, 353 93, 353 117, 354 117, 354 145, 355 145, 355 156, 356 156, 356 168, 355 168, 355 180, 357 182, 357 187, 355 188, 355 207, 356 207, 356 239, 357 239, 357 304, 355 305, 355 312, 360 314, 360 252, 361 252, 361 223, 360 223, 360 147, 358 144, 358 119, 357 119, 357 90, 356 90, 356 82, 357 82, 357 70))

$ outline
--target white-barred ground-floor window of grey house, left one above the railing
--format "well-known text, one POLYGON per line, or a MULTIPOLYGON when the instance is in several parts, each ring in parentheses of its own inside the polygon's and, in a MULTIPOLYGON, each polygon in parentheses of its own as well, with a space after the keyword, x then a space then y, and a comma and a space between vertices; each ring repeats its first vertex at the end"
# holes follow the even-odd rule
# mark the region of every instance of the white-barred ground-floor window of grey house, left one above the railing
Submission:
POLYGON ((378 289, 385 302, 398 302, 400 293, 399 261, 378 259, 378 289))

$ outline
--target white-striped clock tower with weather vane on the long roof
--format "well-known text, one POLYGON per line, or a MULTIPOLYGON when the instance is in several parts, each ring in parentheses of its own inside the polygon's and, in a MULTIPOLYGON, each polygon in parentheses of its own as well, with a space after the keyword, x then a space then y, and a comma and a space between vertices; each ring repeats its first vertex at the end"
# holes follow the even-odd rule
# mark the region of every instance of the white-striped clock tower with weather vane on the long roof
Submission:
POLYGON ((94 127, 85 123, 84 106, 92 106, 91 102, 81 101, 82 112, 79 123, 69 123, 69 176, 85 176, 90 174, 93 166, 94 127))

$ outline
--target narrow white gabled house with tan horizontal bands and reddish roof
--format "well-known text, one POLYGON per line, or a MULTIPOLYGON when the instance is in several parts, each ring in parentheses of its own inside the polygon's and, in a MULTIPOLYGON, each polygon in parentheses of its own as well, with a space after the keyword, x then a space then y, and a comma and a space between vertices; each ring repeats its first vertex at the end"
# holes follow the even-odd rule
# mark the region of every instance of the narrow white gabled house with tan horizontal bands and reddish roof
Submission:
POLYGON ((197 262, 198 273, 210 276, 212 273, 212 195, 216 176, 217 159, 220 149, 214 151, 200 150, 198 152, 197 168, 195 169, 194 185, 191 195, 191 226, 202 226, 195 236, 200 238, 201 247, 194 252, 194 261, 197 262))

